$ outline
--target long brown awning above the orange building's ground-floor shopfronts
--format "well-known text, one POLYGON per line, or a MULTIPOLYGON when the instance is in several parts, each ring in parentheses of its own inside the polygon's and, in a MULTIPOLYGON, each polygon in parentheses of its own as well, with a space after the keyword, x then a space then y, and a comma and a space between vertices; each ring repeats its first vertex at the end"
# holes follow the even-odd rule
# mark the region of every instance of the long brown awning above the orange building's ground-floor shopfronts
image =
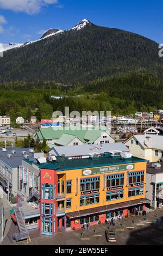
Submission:
POLYGON ((82 211, 69 212, 66 214, 66 217, 72 219, 72 218, 84 217, 89 215, 101 214, 102 212, 128 208, 130 206, 139 205, 139 204, 147 204, 149 202, 150 200, 148 200, 147 198, 142 198, 142 199, 131 200, 131 201, 118 203, 118 204, 111 204, 111 205, 99 206, 91 209, 85 209, 82 211))

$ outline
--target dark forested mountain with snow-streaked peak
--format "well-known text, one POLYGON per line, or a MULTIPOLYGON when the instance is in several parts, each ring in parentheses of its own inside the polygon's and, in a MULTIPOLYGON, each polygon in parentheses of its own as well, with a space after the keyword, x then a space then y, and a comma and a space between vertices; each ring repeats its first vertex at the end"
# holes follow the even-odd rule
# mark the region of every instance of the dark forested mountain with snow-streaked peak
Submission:
POLYGON ((41 39, 4 52, 0 82, 87 84, 131 72, 162 77, 158 52, 158 44, 150 39, 85 19, 68 31, 50 29, 41 39))

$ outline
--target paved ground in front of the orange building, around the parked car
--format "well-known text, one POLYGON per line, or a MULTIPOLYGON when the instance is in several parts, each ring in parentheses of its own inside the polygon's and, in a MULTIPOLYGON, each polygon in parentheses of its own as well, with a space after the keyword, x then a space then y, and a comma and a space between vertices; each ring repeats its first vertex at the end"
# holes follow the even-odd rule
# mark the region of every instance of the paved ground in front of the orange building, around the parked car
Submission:
MULTIPOLYGON (((31 242, 18 242, 18 245, 162 245, 163 244, 163 210, 151 211, 147 220, 143 216, 124 218, 122 225, 116 221, 116 242, 108 243, 105 230, 110 229, 106 224, 97 224, 86 230, 63 231, 54 237, 40 236, 39 230, 29 232, 31 242)), ((112 228, 111 228, 112 229, 112 228)), ((5 241, 4 241, 5 244, 5 241)))

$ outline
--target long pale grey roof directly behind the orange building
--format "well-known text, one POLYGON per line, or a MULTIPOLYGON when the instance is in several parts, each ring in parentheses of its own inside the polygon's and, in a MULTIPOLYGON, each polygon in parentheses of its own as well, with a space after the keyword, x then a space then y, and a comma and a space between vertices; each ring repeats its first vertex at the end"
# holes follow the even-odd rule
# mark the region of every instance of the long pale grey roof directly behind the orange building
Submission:
POLYGON ((58 147, 54 146, 49 150, 49 156, 62 156, 68 157, 69 159, 80 159, 89 157, 92 153, 98 153, 99 155, 109 151, 129 152, 129 149, 123 143, 109 143, 109 144, 84 144, 76 147, 58 147))

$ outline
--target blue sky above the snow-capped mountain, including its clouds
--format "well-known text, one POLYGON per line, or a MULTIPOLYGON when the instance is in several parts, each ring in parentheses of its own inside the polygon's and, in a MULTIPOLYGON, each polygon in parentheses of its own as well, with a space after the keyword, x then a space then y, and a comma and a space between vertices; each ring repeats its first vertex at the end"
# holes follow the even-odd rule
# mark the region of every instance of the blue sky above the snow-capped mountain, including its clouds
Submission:
POLYGON ((0 42, 40 38, 49 28, 69 29, 88 19, 163 43, 162 0, 0 0, 0 42))

